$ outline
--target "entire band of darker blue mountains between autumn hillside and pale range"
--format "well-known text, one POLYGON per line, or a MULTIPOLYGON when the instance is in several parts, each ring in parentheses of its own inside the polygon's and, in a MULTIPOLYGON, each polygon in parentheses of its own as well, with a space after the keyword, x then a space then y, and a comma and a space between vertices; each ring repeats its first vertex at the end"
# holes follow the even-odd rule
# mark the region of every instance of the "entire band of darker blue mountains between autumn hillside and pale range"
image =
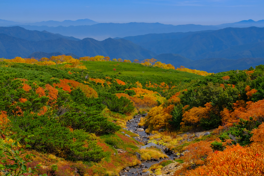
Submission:
POLYGON ((98 41, 31 31, 19 26, 0 27, 0 58, 49 58, 61 54, 74 58, 103 55, 131 61, 155 58, 175 67, 183 65, 217 73, 264 64, 264 28, 228 27, 98 41))

